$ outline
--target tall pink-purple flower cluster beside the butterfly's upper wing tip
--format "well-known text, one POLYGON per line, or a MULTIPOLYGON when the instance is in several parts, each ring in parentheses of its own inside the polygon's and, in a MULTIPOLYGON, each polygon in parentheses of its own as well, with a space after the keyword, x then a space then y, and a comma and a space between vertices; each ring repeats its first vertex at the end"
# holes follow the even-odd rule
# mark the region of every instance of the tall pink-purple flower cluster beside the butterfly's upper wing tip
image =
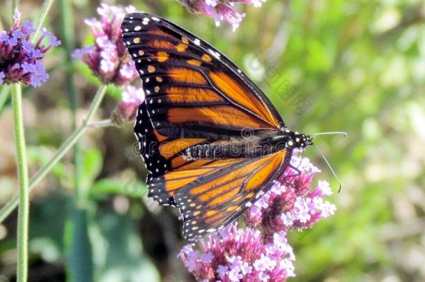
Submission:
POLYGON ((137 77, 134 62, 125 48, 121 36, 121 22, 125 13, 134 12, 134 7, 125 9, 102 4, 98 8, 100 19, 86 19, 94 37, 94 44, 76 49, 74 58, 88 65, 88 68, 105 84, 118 86, 130 84, 137 77))

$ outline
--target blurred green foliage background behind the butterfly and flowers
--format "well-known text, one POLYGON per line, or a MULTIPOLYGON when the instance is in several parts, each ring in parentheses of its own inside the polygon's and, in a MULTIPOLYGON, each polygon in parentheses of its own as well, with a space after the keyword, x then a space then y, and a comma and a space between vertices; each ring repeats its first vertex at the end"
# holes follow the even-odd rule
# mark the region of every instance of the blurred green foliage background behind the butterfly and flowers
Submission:
MULTIPOLYGON (((93 40, 84 19, 97 17, 99 3, 56 0, 47 17, 45 26, 65 44, 45 59, 47 83, 24 91, 31 175, 95 93, 98 81, 68 52, 93 40)), ((291 280, 425 281, 423 1, 268 0, 238 7, 247 16, 235 33, 176 1, 105 3, 132 4, 212 43, 263 88, 293 130, 348 133, 315 139, 343 190, 330 198, 334 216, 289 236, 297 258, 291 280)), ((3 29, 9 5, 1 3, 3 29)), ((20 10, 35 19, 40 5, 23 0, 20 10)), ((116 105, 119 91, 109 94, 98 118, 116 105)), ((12 131, 8 102, 0 116, 1 205, 17 193, 12 131)), ((132 125, 90 130, 33 191, 31 281, 192 281, 176 258, 185 244, 176 210, 146 199, 134 141, 132 125)), ((317 180, 336 191, 323 159, 313 149, 307 156, 323 170, 317 180)), ((15 279, 16 217, 0 225, 0 281, 15 279)))

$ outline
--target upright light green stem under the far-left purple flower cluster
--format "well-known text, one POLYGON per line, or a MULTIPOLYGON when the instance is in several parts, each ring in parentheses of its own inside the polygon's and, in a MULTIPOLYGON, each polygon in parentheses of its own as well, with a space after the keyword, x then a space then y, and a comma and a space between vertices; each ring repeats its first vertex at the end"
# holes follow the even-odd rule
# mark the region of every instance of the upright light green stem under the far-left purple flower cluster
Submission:
POLYGON ((22 114, 22 88, 20 84, 13 84, 12 86, 12 104, 15 123, 17 175, 20 186, 17 216, 17 281, 25 282, 28 278, 29 184, 22 114))

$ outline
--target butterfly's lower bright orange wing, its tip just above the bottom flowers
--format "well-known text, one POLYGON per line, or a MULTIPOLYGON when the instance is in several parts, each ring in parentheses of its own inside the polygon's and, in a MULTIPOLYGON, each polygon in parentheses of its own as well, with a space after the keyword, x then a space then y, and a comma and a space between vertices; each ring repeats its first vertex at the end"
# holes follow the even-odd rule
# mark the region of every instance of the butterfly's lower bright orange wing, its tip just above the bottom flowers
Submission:
POLYGON ((238 219, 270 189, 289 160, 286 151, 240 159, 176 191, 174 199, 183 214, 185 238, 199 239, 238 219))

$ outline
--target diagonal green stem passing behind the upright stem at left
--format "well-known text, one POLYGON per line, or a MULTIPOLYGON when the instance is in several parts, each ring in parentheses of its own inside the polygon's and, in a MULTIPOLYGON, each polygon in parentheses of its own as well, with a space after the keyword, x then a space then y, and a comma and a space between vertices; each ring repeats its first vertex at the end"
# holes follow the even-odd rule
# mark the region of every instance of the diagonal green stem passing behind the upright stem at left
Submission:
MULTIPOLYGON (((107 86, 105 84, 102 84, 98 88, 98 92, 95 95, 95 98, 91 104, 90 109, 88 109, 88 114, 86 118, 84 119, 83 124, 75 130, 74 133, 65 141, 65 143, 62 144, 62 146, 57 150, 56 154, 50 161, 45 164, 45 166, 36 173, 36 175, 31 178, 29 182, 29 191, 31 191, 42 178, 49 173, 50 170, 52 170, 53 166, 59 162, 59 160, 74 146, 74 144, 78 141, 78 139, 82 136, 82 134, 90 127, 89 123, 91 118, 93 118, 93 115, 98 110, 100 103, 102 102, 103 97, 105 96, 107 86)), ((15 210, 15 207, 17 207, 18 204, 18 198, 12 198, 3 208, 0 210, 0 223, 3 222, 8 215, 15 210)))

